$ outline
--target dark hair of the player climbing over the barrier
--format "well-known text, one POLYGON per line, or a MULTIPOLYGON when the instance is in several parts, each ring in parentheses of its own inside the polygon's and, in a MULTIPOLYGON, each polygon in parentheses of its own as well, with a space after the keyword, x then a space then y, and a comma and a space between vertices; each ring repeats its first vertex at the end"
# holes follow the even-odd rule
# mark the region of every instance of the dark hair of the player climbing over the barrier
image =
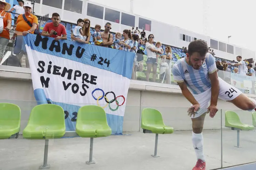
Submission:
POLYGON ((188 54, 192 55, 194 52, 198 52, 201 56, 205 56, 208 53, 208 45, 202 40, 195 40, 188 45, 188 54))

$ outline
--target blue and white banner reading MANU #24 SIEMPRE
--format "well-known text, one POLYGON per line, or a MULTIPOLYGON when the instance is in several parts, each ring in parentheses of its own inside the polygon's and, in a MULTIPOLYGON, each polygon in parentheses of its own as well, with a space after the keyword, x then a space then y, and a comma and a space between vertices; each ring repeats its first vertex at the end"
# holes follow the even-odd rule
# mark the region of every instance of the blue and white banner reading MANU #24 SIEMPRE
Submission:
POLYGON ((112 134, 122 134, 135 53, 35 34, 24 43, 35 99, 63 108, 66 131, 75 131, 81 106, 98 105, 112 134))

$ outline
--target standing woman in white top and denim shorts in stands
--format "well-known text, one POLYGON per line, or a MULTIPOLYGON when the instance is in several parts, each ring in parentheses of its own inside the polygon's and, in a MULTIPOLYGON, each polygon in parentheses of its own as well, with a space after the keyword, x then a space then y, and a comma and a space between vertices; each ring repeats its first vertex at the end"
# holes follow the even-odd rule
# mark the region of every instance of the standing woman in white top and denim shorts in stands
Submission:
POLYGON ((154 35, 148 35, 148 43, 146 43, 146 51, 147 51, 147 73, 146 80, 149 81, 149 74, 151 69, 153 68, 153 82, 156 82, 156 70, 157 70, 157 61, 156 61, 156 53, 162 53, 161 50, 156 50, 154 43, 154 35))

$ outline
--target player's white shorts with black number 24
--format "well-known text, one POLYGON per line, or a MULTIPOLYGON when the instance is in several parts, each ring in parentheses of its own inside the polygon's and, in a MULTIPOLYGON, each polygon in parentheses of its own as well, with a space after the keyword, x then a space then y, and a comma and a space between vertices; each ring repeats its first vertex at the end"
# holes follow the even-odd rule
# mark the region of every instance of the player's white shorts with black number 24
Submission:
MULTIPOLYGON (((240 94, 242 94, 240 90, 219 78, 219 99, 229 101, 235 99, 240 94)), ((211 102, 211 88, 198 95, 193 96, 195 97, 196 101, 200 104, 200 109, 195 115, 195 117, 192 116, 191 118, 197 118, 205 112, 207 112, 208 110, 207 108, 209 107, 211 102)))

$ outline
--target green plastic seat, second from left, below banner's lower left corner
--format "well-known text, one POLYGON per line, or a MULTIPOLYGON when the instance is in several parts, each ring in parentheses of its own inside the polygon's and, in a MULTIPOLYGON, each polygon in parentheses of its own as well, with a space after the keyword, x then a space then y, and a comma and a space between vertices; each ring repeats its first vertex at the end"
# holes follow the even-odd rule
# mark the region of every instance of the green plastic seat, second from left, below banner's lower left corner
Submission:
POLYGON ((62 107, 55 104, 35 106, 23 130, 26 139, 61 138, 66 131, 65 116, 62 107))

